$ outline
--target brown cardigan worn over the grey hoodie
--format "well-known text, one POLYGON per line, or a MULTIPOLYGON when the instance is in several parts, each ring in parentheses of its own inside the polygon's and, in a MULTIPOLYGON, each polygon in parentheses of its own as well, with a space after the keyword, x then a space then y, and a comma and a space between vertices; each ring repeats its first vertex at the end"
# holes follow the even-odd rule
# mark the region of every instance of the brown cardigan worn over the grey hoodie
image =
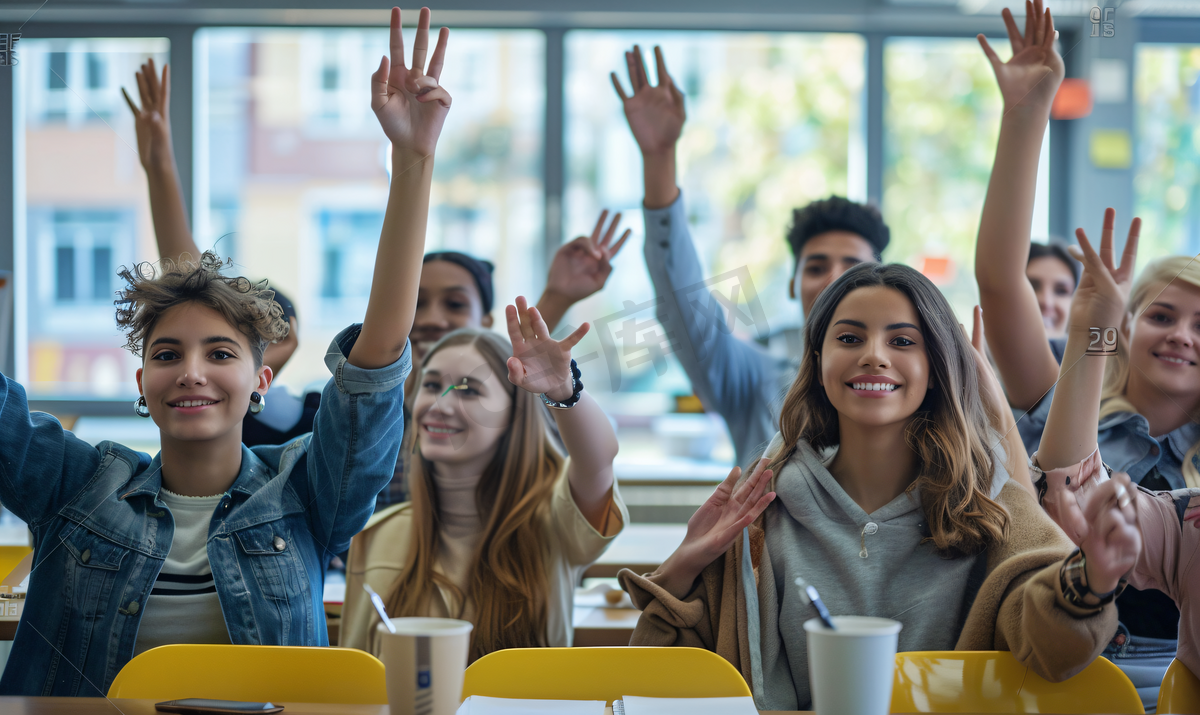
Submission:
MULTIPOLYGON (((1025 488, 1009 481, 1000 504, 1012 517, 1008 540, 988 552, 988 576, 967 614, 958 650, 1010 650, 1037 674, 1052 681, 1082 671, 1117 630, 1116 605, 1084 612, 1067 603, 1058 585, 1058 566, 1074 545, 1025 488)), ((774 589, 766 553, 763 518, 750 525, 751 565, 763 589, 774 589)), ((618 577, 634 605, 643 611, 631 645, 690 645, 713 650, 730 661, 746 683, 750 671, 742 539, 704 569, 691 593, 676 599, 654 582, 623 570, 618 577)))

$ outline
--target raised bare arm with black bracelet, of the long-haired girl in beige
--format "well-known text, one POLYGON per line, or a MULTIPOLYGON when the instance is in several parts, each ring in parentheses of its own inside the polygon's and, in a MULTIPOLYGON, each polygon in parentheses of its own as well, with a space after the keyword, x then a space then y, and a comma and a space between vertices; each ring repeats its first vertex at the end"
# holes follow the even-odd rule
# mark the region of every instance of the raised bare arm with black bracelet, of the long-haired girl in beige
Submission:
MULTIPOLYGON (((509 381, 529 392, 542 393, 556 402, 565 402, 575 393, 571 375, 571 348, 587 335, 587 323, 560 341, 550 337, 550 328, 538 308, 530 308, 524 296, 516 306, 508 306, 509 381)), ((582 392, 570 408, 553 409, 563 446, 571 456, 566 479, 580 512, 598 531, 604 530, 612 492, 612 461, 617 457, 617 434, 608 416, 592 396, 582 392)))

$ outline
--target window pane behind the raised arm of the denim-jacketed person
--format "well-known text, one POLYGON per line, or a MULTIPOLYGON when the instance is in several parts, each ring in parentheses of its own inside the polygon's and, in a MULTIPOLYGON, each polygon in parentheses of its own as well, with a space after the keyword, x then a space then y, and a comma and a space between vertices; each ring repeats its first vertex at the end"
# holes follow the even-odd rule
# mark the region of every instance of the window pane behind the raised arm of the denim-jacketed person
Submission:
MULTIPOLYGON (((545 235, 545 46, 455 30, 442 74, 454 107, 426 247, 496 263, 499 300, 532 290, 545 235)), ((330 338, 366 308, 391 172, 367 85, 386 52, 386 29, 197 34, 197 242, 293 300, 300 347, 281 379, 295 387, 329 378, 330 338)))

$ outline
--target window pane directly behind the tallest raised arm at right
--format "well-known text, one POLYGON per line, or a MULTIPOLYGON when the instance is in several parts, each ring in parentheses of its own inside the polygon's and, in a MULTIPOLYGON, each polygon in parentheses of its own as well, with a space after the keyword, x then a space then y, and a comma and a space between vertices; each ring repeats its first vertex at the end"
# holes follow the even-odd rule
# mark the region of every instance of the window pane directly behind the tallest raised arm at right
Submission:
MULTIPOLYGON (((992 40, 1001 59, 1008 42, 992 40)), ((1003 100, 978 41, 901 37, 883 48, 884 259, 924 272, 970 323, 978 301, 974 245, 996 154, 1003 100)), ((1046 132, 1049 134, 1049 132, 1046 132)), ((1046 240, 1049 139, 1034 208, 1034 240, 1046 240)))

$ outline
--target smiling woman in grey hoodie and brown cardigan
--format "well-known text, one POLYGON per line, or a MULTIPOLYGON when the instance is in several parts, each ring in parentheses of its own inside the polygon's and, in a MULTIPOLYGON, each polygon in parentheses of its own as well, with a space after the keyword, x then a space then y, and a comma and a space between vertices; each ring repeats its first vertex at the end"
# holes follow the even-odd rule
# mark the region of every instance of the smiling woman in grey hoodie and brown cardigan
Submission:
MULTIPOLYGON (((1114 607, 1063 590, 1072 543, 1009 479, 1025 455, 996 432, 979 313, 974 344, 950 316, 901 265, 856 266, 817 298, 766 457, 730 474, 658 571, 620 572, 643 609, 634 644, 715 650, 760 709, 803 710, 803 577, 834 614, 901 621, 900 650, 1012 650, 1051 680, 1099 654, 1114 607)), ((1087 545, 1098 583, 1136 540, 1123 524, 1087 545)))

